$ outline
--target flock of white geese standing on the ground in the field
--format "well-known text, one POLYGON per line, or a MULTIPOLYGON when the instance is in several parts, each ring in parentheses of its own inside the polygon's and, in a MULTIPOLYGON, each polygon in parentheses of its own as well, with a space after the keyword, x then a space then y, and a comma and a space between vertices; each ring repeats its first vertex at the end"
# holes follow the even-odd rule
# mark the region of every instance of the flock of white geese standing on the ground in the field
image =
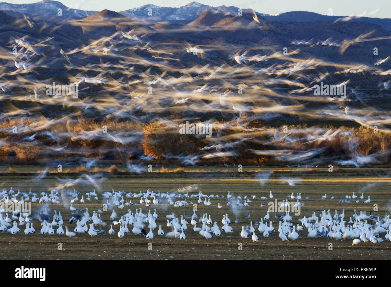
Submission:
MULTIPOLYGON (((59 204, 60 198, 59 193, 56 190, 52 190, 49 194, 41 193, 41 197, 36 193, 22 193, 18 191, 17 193, 12 190, 12 187, 9 191, 3 189, 0 193, 0 196, 3 196, 1 199, 1 209, 0 209, 0 230, 8 231, 11 234, 16 234, 21 232, 20 226, 25 225, 24 233, 26 235, 35 233, 35 229, 33 227, 34 219, 38 219, 39 224, 41 226, 40 233, 41 234, 49 234, 54 235, 55 233, 58 235, 65 234, 68 237, 74 237, 77 234, 88 233, 91 236, 97 236, 99 234, 106 234, 106 231, 103 228, 108 224, 101 219, 101 214, 104 212, 103 210, 111 209, 111 215, 109 219, 112 221, 110 223, 110 229, 108 233, 110 235, 114 235, 116 231, 113 229, 113 226, 118 226, 119 230, 117 232, 117 236, 122 238, 130 231, 135 235, 143 235, 147 239, 152 239, 154 237, 154 230, 158 227, 157 234, 160 236, 165 235, 166 237, 175 237, 179 239, 185 239, 185 232, 196 232, 201 237, 206 239, 216 238, 221 235, 222 232, 226 234, 233 234, 233 225, 231 225, 231 220, 228 218, 228 213, 222 215, 220 227, 217 221, 212 221, 211 215, 208 213, 202 214, 198 218, 195 209, 193 209, 192 215, 186 215, 185 213, 180 216, 176 216, 176 214, 168 214, 165 216, 167 220, 167 227, 170 228, 170 232, 165 233, 162 229, 161 224, 156 224, 156 219, 159 218, 156 209, 151 212, 151 209, 145 214, 142 212, 142 207, 148 207, 153 205, 154 207, 159 207, 159 205, 172 205, 174 207, 181 207, 190 205, 193 206, 191 201, 192 198, 198 199, 198 203, 204 203, 205 206, 211 205, 211 198, 221 198, 224 196, 218 195, 206 195, 199 191, 198 194, 176 194, 176 193, 154 193, 153 191, 147 190, 147 192, 139 194, 136 193, 126 193, 123 192, 115 192, 113 190, 112 193, 105 192, 102 193, 102 197, 106 199, 106 203, 103 204, 103 210, 99 207, 97 211, 93 210, 92 216, 88 213, 88 208, 85 210, 82 208, 77 210, 72 206, 72 203, 80 202, 83 204, 85 201, 91 201, 91 198, 94 200, 99 200, 98 195, 95 192, 86 193, 86 198, 84 195, 79 199, 79 194, 75 190, 74 192, 68 192, 66 195, 72 196, 72 200, 70 200, 70 206, 68 208, 71 211, 71 216, 69 219, 69 223, 76 223, 76 226, 72 230, 69 230, 68 226, 65 226, 65 231, 63 228, 64 221, 63 216, 61 215, 61 211, 58 212, 54 210, 54 214, 48 209, 48 203, 59 204), (9 198, 11 196, 11 199, 9 198), (20 200, 17 198, 21 197, 20 200), (127 198, 126 200, 124 199, 127 198), (139 203, 131 203, 130 198, 140 198, 139 203), (206 200, 208 198, 208 200, 206 200), (40 209, 34 213, 33 216, 26 212, 21 212, 18 208, 18 205, 26 201, 39 202, 40 209), (14 203, 17 207, 13 212, 11 217, 8 212, 5 212, 4 204, 12 204, 14 203), (136 208, 135 212, 132 212, 129 208, 126 213, 118 216, 116 209, 121 210, 124 206, 131 207, 132 205, 136 205, 139 208, 136 208), (117 220, 118 219, 118 220, 117 220), (190 221, 190 223, 188 222, 190 221), (188 228, 187 225, 191 225, 192 228, 188 228), (199 226, 197 226, 199 225, 199 226), (12 227, 11 227, 12 226, 12 227), (19 226, 19 227, 18 227, 19 226), (89 226, 89 227, 88 227, 89 226), (99 228, 97 227, 99 226, 99 228), (129 227, 131 228, 129 230, 129 227), (56 230, 54 229, 56 228, 56 230), (97 228, 97 229, 96 229, 97 228), (145 230, 146 228, 147 230, 145 230), (149 232, 147 232, 149 231, 149 232)), ((326 196, 326 195, 325 195, 326 196)), ((288 198, 299 200, 301 199, 301 193, 294 196, 293 193, 291 195, 287 195, 288 198)), ((353 193, 353 196, 345 196, 345 198, 357 198, 358 196, 353 193)), ((361 198, 363 194, 361 195, 361 198)), ((251 195, 251 199, 255 200, 256 196, 251 195)), ((269 198, 274 198, 272 192, 269 194, 269 198)), ((228 192, 226 199, 228 200, 228 206, 236 205, 238 207, 242 207, 245 205, 249 205, 253 201, 248 198, 248 196, 244 196, 244 204, 242 203, 242 198, 240 196, 232 196, 230 192, 228 192), (235 203, 236 201, 236 203, 235 203)), ((262 196, 261 199, 266 199, 266 197, 262 196)), ((307 196, 306 199, 309 199, 307 196)), ((322 196, 322 200, 325 199, 322 196)), ((368 199, 369 200, 369 199, 368 199)), ((299 203, 299 201, 298 201, 299 203)), ((301 203, 302 205, 303 203, 301 203)), ((218 208, 222 206, 220 203, 217 205, 218 208)), ((79 207, 78 207, 79 208, 79 207)), ((234 210, 233 210, 234 211, 234 210)), ((235 213, 235 212, 234 212, 235 213)), ((249 219, 250 210, 244 216, 244 219, 249 219)), ((242 225, 240 237, 243 239, 247 239, 250 237, 253 242, 259 241, 257 232, 262 234, 263 237, 269 237, 271 232, 278 232, 278 237, 282 241, 290 241, 296 240, 300 237, 326 237, 332 239, 353 239, 352 245, 359 244, 361 241, 363 242, 371 242, 373 244, 383 241, 391 241, 391 219, 389 215, 385 215, 384 217, 373 216, 372 214, 367 215, 366 211, 360 211, 359 214, 354 213, 352 216, 345 215, 345 210, 342 210, 341 214, 338 214, 337 210, 335 210, 334 216, 330 214, 330 210, 323 210, 319 215, 314 211, 311 217, 303 217, 298 219, 297 225, 292 223, 292 216, 289 214, 289 211, 285 210, 284 214, 275 213, 274 217, 276 219, 275 222, 278 222, 278 228, 275 230, 273 226, 273 221, 270 220, 269 211, 267 211, 264 217, 260 218, 260 221, 256 221, 253 225, 253 222, 250 221, 249 226, 242 225), (268 222, 269 221, 269 222, 268 222), (256 228, 258 226, 258 228, 256 228), (303 235, 299 235, 299 233, 303 235), (306 234, 307 233, 307 234, 306 234), (381 236, 384 235, 383 239, 381 236)), ((234 221, 235 224, 240 224, 241 221, 237 218, 234 221)))

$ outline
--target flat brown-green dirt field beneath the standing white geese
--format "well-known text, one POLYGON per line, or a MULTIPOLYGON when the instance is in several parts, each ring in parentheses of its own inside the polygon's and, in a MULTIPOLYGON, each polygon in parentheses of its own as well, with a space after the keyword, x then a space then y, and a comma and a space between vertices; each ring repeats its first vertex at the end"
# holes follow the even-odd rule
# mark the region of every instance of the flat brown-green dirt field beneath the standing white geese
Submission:
MULTIPOLYGON (((312 212, 315 211, 319 216, 319 212, 323 209, 326 211, 330 209, 330 214, 334 215, 334 210, 338 211, 338 214, 345 210, 345 220, 349 221, 349 217, 353 214, 353 209, 359 214, 360 210, 369 211, 372 210, 372 214, 384 216, 387 212, 390 213, 390 209, 387 205, 390 204, 390 184, 391 178, 383 176, 374 176, 372 173, 384 174, 388 170, 380 170, 376 172, 368 172, 370 176, 341 176, 338 173, 325 173, 324 176, 297 174, 292 171, 292 174, 287 176, 300 177, 301 181, 295 186, 291 187, 286 182, 282 182, 280 176, 271 176, 266 181, 265 186, 261 186, 258 180, 254 179, 254 176, 248 176, 244 178, 232 175, 229 172, 216 178, 215 176, 205 176, 200 179, 193 173, 183 175, 182 177, 170 176, 169 174, 157 177, 157 178, 108 178, 102 183, 103 191, 115 191, 126 190, 127 192, 139 193, 145 192, 147 189, 157 192, 160 190, 163 192, 176 191, 178 188, 186 187, 188 185, 199 185, 199 189, 203 194, 224 195, 224 198, 211 198, 212 206, 204 206, 203 203, 197 203, 196 198, 188 198, 187 201, 197 203, 197 215, 198 218, 201 214, 207 212, 211 215, 212 221, 217 221, 217 224, 221 228, 222 215, 228 213, 228 217, 231 219, 231 226, 233 227, 233 233, 226 234, 222 232, 220 237, 213 239, 204 239, 198 232, 192 230, 192 226, 189 224, 187 231, 185 231, 186 239, 180 240, 175 238, 167 238, 157 235, 157 229, 154 230, 154 238, 147 240, 142 235, 135 235, 129 228, 129 233, 125 234, 124 238, 118 238, 117 232, 118 226, 113 226, 115 230, 114 235, 104 234, 97 237, 91 237, 88 234, 78 234, 76 237, 69 238, 65 235, 41 235, 39 233, 40 226, 39 221, 34 220, 34 228, 36 233, 33 235, 24 234, 24 226, 21 226, 21 232, 16 235, 12 235, 9 232, 0 232, 0 244, 7 250, 2 255, 2 259, 43 259, 43 260, 69 260, 69 259, 93 259, 93 260, 111 260, 111 259, 154 259, 154 260, 171 260, 171 259, 197 259, 197 260, 391 260, 391 241, 385 240, 382 243, 372 244, 361 242, 358 246, 352 246, 352 239, 347 240, 335 240, 327 238, 315 238, 310 239, 307 237, 307 229, 299 232, 300 238, 296 241, 282 242, 278 238, 278 221, 274 218, 274 213, 270 214, 270 220, 273 221, 273 226, 276 232, 271 232, 269 237, 263 237, 258 232, 258 226, 256 228, 256 235, 259 238, 259 242, 252 242, 251 238, 242 239, 240 237, 240 231, 242 225, 250 225, 250 221, 253 221, 253 225, 256 221, 260 220, 260 217, 264 217, 267 211, 267 203, 271 201, 269 199, 269 191, 272 191, 274 199, 282 201, 287 199, 287 195, 292 192, 301 193, 304 206, 301 207, 300 216, 294 216, 292 223, 297 225, 298 219, 303 216, 310 217, 312 212), (374 184, 376 183, 376 184, 374 184), (368 184, 373 184, 369 186, 368 184), (352 193, 361 195, 361 191, 364 189, 364 199, 360 203, 339 203, 339 198, 344 195, 352 196, 352 193), (235 224, 235 214, 230 207, 226 206, 227 191, 235 196, 244 195, 256 195, 255 200, 249 203, 248 207, 240 208, 240 215, 238 218, 242 221, 239 224, 235 224), (325 200, 321 200, 323 194, 327 194, 325 200), (330 196, 334 195, 333 200, 330 196), (368 199, 368 195, 371 196, 371 202, 366 205, 364 200, 368 199), (267 200, 260 199, 261 196, 267 197, 267 200), (305 196, 309 196, 309 200, 305 200, 305 196), (223 208, 218 209, 217 205, 220 203, 223 208), (264 203, 265 207, 260 207, 260 204, 264 203), (373 212, 373 204, 378 205, 378 211, 373 212), (250 218, 244 219, 243 216, 250 210, 250 218), (148 243, 152 245, 148 248, 148 243), (332 242, 332 250, 329 249, 329 242, 332 242), (58 250, 58 243, 62 243, 62 250, 58 250), (239 250, 239 244, 242 244, 242 250, 239 250), (152 250, 151 250, 152 248, 152 250)), ((353 172, 351 172, 353 173, 353 172)), ((39 182, 31 182, 31 176, 1 176, 2 187, 9 189, 10 186, 13 190, 17 191, 29 191, 32 192, 47 191, 48 187, 56 185, 58 180, 55 178, 44 178, 39 182)), ((84 192, 92 191, 92 187, 80 186, 77 190, 82 194, 84 192)), ((198 189, 195 194, 198 193, 198 189)), ((190 193, 190 194, 193 194, 190 193)), ((79 196, 79 199, 81 196, 79 196)), ((102 199, 102 196, 99 196, 102 199)), ((138 203, 139 200, 132 199, 132 203, 138 203)), ((103 201, 102 199, 102 202, 103 201)), ((91 199, 88 204, 77 204, 79 207, 86 209, 90 216, 93 210, 97 210, 102 207, 101 201, 95 201, 91 199)), ((33 203, 33 210, 39 206, 39 204, 33 203)), ((76 205, 75 205, 76 206, 76 205)), ((136 208, 142 207, 142 212, 147 213, 150 209, 153 213, 153 209, 159 215, 159 219, 156 220, 157 225, 161 224, 165 233, 170 232, 171 229, 167 227, 167 219, 165 215, 174 212, 177 216, 181 214, 192 214, 193 205, 189 204, 186 207, 173 207, 167 204, 160 204, 158 206, 151 205, 149 207, 136 206, 130 207, 132 212, 135 212, 136 208)), ((75 222, 69 224, 70 211, 66 210, 62 204, 50 205, 52 211, 61 210, 65 225, 68 225, 70 230, 73 230, 76 226, 75 222)), ((121 216, 127 212, 129 207, 125 206, 124 209, 116 209, 118 216, 121 216)), ((102 220, 108 223, 103 229, 106 232, 110 228, 111 220, 109 216, 111 210, 103 212, 101 214, 102 220)), ((320 217, 319 217, 320 219, 320 217)), ((117 218, 118 220, 118 218, 117 218)), ((190 219, 187 220, 190 222, 190 219)), ((56 229, 56 228, 55 228, 56 229)), ((145 228, 147 230, 148 228, 145 228)), ((64 226, 65 230, 65 226, 64 226)), ((149 230, 147 230, 148 232, 149 230)), ((250 234, 251 235, 251 234, 250 234)), ((382 234, 382 238, 384 239, 382 234)))

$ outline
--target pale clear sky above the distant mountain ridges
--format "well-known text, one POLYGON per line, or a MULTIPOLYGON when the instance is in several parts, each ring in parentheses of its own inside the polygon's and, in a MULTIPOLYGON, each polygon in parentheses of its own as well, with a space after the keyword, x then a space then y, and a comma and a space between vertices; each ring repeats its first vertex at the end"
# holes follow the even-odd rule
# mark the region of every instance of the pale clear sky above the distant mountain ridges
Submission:
MULTIPOLYGON (((3 0, 12 4, 35 3, 37 0, 3 0)), ((154 4, 165 7, 181 7, 192 2, 191 0, 62 0, 59 1, 67 7, 82 10, 123 11, 140 7, 146 4, 154 4)), ((329 14, 332 9, 334 16, 366 16, 377 18, 391 18, 391 0, 208 0, 197 1, 213 7, 226 5, 239 8, 252 8, 257 12, 275 15, 289 11, 310 11, 323 15, 329 14)))

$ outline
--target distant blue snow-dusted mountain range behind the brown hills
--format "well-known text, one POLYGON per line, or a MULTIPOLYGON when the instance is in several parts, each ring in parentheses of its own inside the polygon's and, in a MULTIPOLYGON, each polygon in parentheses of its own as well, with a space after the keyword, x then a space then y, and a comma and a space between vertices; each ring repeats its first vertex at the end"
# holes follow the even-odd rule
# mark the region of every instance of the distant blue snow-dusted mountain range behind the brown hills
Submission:
MULTIPOLYGON (((171 23, 190 23, 203 12, 212 10, 231 15, 238 15, 239 8, 234 6, 219 6, 212 7, 198 2, 191 2, 179 8, 175 7, 160 7, 156 5, 143 5, 133 9, 119 11, 120 14, 132 18, 133 20, 143 20, 149 23, 161 21, 170 21, 171 23)), ((84 11, 80 9, 72 9, 66 7, 61 2, 52 0, 43 0, 32 4, 9 4, 6 2, 0 3, 0 11, 13 17, 23 17, 26 14, 34 20, 48 20, 59 23, 64 18, 72 18, 79 20, 99 11, 84 11), (62 9, 62 16, 58 16, 58 9, 62 9)), ((251 9, 243 9, 242 12, 254 13, 251 9)), ((287 21, 287 22, 315 22, 315 21, 351 21, 365 22, 379 25, 385 30, 391 31, 391 19, 387 18, 369 18, 369 17, 354 17, 354 16, 325 16, 314 12, 292 11, 285 12, 279 15, 268 15, 261 12, 255 12, 259 20, 263 21, 287 21)))

